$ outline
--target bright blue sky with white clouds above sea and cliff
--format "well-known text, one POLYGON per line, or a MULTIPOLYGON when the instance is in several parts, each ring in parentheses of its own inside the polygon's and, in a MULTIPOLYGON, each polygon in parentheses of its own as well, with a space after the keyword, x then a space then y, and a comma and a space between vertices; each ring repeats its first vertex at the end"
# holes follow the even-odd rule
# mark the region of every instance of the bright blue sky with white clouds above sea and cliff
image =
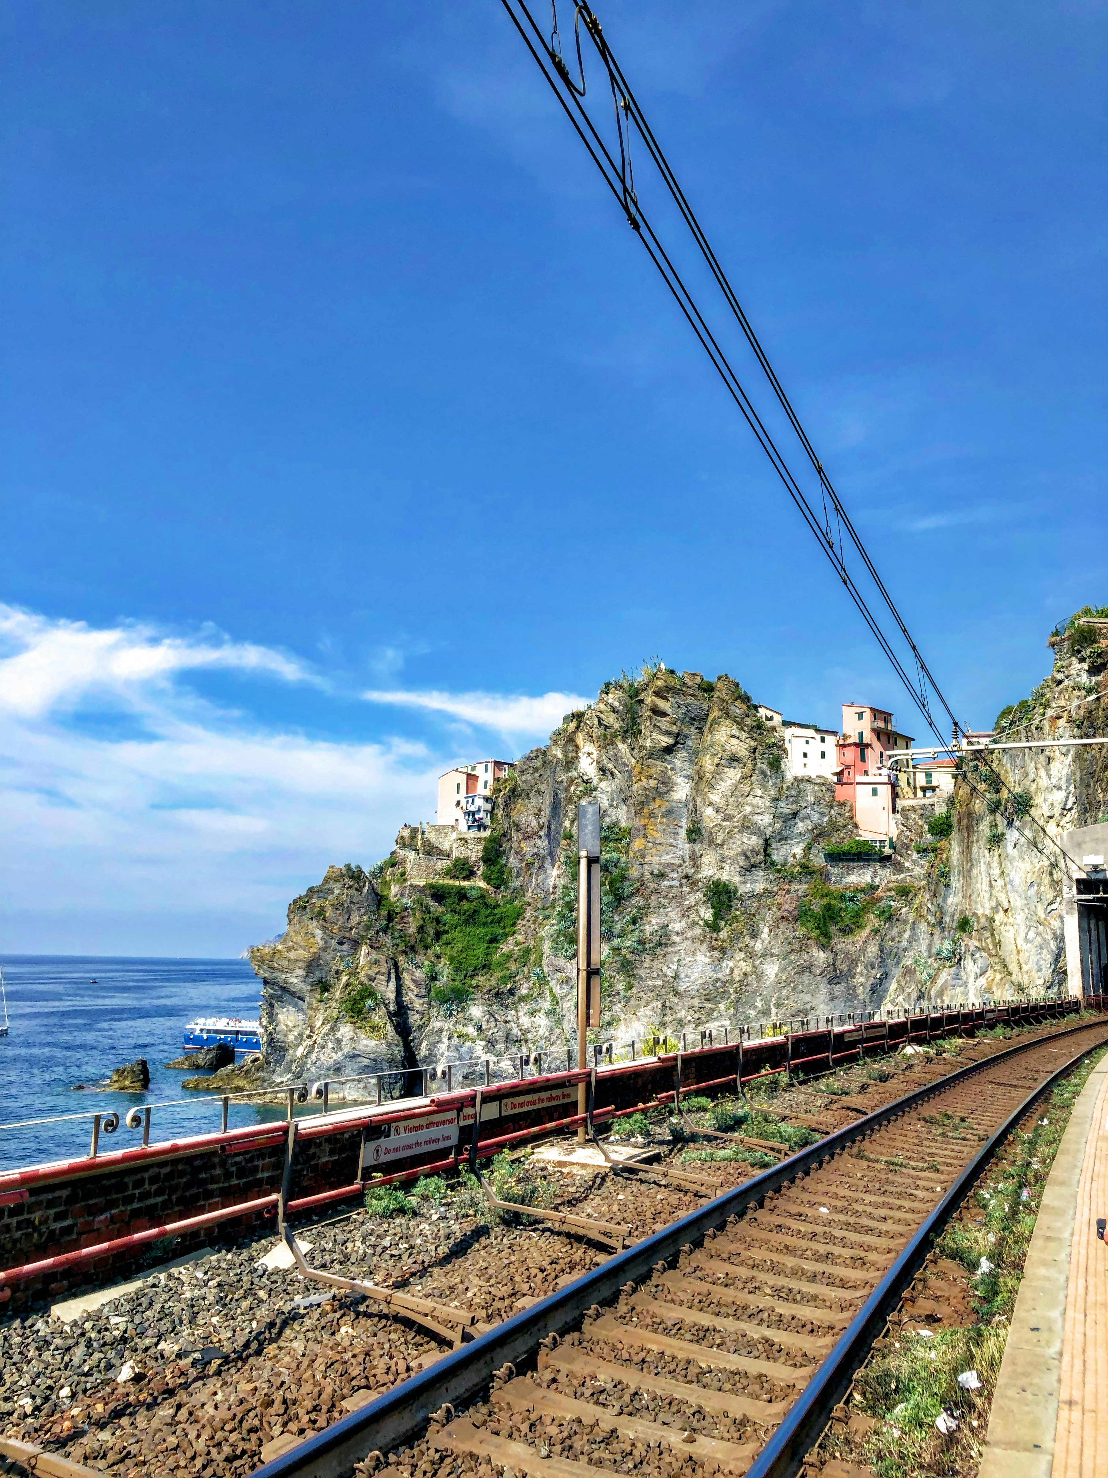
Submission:
MULTIPOLYGON (((1108 600, 1104 7, 598 13, 990 724, 1108 600)), ((0 27, 6 949, 238 953, 652 655, 922 733, 499 4, 0 27)))

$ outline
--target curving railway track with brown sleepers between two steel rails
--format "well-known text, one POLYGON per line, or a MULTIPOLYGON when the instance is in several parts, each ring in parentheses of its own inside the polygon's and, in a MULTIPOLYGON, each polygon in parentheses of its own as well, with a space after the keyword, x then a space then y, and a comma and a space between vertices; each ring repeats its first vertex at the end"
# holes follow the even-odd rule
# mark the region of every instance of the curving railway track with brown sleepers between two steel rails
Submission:
POLYGON ((1108 1021, 1071 1027, 917 1088, 607 1259, 257 1478, 799 1472, 971 1181, 1028 1101, 1104 1042, 1108 1021))

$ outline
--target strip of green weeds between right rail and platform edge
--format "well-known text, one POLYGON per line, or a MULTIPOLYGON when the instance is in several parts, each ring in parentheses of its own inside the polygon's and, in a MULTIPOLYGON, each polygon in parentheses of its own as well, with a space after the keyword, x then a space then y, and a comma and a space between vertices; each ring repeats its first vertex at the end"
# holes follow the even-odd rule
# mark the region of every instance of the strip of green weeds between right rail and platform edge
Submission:
POLYGON ((867 1462, 878 1478, 977 1474, 1043 1185, 1077 1095, 1105 1052, 1090 1054, 1040 1103, 1031 1128, 1015 1132, 935 1246, 937 1258, 971 1274, 974 1321, 928 1329, 906 1315, 858 1372, 851 1423, 832 1423, 820 1457, 867 1462), (977 1372, 979 1389, 959 1386, 957 1376, 968 1370, 977 1372), (943 1411, 957 1422, 945 1435, 935 1426, 943 1411))

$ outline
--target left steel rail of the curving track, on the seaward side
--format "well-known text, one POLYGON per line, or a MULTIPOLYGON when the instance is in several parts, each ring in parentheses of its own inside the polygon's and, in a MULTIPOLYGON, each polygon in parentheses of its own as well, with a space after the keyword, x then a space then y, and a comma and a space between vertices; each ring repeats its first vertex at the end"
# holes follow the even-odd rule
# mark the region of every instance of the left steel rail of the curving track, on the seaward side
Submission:
MULTIPOLYGON (((513 1364, 524 1361, 535 1354, 539 1342, 548 1335, 563 1335, 573 1329, 594 1304, 615 1301, 626 1281, 644 1278, 659 1261, 669 1261, 677 1256, 684 1246, 703 1239, 708 1231, 718 1230, 728 1218, 748 1210, 765 1196, 782 1190, 824 1160, 835 1159, 836 1154, 858 1140, 864 1140, 875 1129, 900 1117, 928 1098, 945 1092, 954 1083, 966 1082, 997 1063, 1009 1061, 1024 1052, 1034 1051, 1046 1042, 1055 1042, 1083 1032, 1104 1030, 1104 1027, 1105 1021, 1101 1020, 1067 1027, 1064 1032, 1052 1032, 1046 1038, 1019 1042, 1002 1052, 994 1052, 991 1057, 982 1058, 979 1063, 971 1063, 966 1067, 957 1069, 932 1083, 920 1085, 910 1094, 867 1114, 864 1119, 858 1119, 855 1123, 847 1125, 824 1140, 798 1150, 796 1154, 792 1154, 787 1160, 782 1160, 780 1165, 762 1171, 743 1185, 736 1187, 736 1190, 725 1191, 680 1221, 671 1222, 662 1231, 646 1237, 626 1252, 616 1253, 616 1256, 609 1258, 598 1268, 584 1274, 575 1283, 533 1304, 530 1308, 514 1315, 514 1318, 505 1320, 488 1335, 474 1339, 464 1349, 445 1355, 427 1370, 412 1376, 391 1391, 386 1391, 360 1410, 353 1411, 315 1437, 306 1438, 288 1453, 257 1468, 251 1478, 346 1478, 353 1465, 362 1462, 366 1453, 374 1450, 389 1453, 412 1440, 443 1404, 449 1403, 452 1407, 461 1407, 467 1401, 471 1401, 490 1383, 495 1372, 505 1361, 513 1364)), ((1102 1045, 1099 1041, 1093 1043, 1093 1046, 1099 1045, 1102 1045)), ((1084 1051, 1093 1051, 1093 1046, 1084 1051)), ((1077 1061, 1081 1055, 1084 1052, 1078 1052, 1073 1061, 1077 1061)), ((1073 1061, 1067 1067, 1071 1067, 1073 1061)), ((1052 1075, 1047 1082, 1052 1082, 1056 1076, 1052 1075)), ((1039 1091, 1036 1089, 1036 1092, 1039 1091)), ((974 1165, 979 1165, 979 1154, 974 1165)), ((948 1196, 944 1197, 941 1205, 945 1205, 948 1199, 948 1196)), ((917 1244, 917 1239, 913 1239, 913 1246, 917 1244)), ((838 1351, 839 1346, 832 1354, 838 1351)), ((782 1472, 784 1471, 782 1469, 782 1472)), ((793 1469, 787 1471, 792 1472, 793 1469)))

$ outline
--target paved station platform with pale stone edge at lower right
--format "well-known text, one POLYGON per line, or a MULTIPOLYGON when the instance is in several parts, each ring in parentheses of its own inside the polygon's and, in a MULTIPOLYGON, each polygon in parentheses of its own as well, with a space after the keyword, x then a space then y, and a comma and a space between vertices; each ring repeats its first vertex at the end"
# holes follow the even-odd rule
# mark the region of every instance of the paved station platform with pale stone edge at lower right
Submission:
POLYGON ((1108 1058, 1070 1114, 1005 1345, 979 1478, 1108 1474, 1108 1058))

